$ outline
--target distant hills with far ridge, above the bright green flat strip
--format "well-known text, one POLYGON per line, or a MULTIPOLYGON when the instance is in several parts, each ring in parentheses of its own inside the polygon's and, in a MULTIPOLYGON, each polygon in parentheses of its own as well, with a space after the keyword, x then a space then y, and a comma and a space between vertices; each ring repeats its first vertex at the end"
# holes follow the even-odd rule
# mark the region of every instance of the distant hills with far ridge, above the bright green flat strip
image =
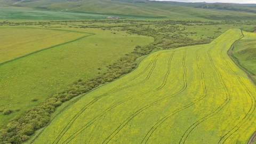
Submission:
MULTIPOLYGON (((1 3, 12 6, 61 12, 142 15, 150 17, 166 17, 170 19, 256 19, 254 5, 250 5, 251 7, 249 5, 235 5, 233 7, 238 7, 236 9, 237 11, 235 11, 231 8, 221 8, 223 7, 222 5, 214 6, 214 4, 208 3, 156 2, 147 0, 0 0, 0 4, 1 3)), ((231 6, 232 4, 229 5, 231 6)))

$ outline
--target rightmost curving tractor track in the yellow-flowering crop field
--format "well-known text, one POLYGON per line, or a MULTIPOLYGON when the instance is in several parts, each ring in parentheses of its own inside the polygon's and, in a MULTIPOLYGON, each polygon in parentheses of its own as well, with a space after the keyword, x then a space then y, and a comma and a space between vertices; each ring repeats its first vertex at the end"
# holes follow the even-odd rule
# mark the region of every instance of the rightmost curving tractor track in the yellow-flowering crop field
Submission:
MULTIPOLYGON (((252 103, 251 103, 251 108, 250 108, 250 110, 248 111, 248 113, 246 113, 246 115, 243 117, 243 119, 242 119, 238 124, 236 124, 236 125, 233 127, 233 129, 229 130, 225 135, 223 135, 223 136, 221 137, 221 139, 219 140, 218 143, 225 143, 225 141, 226 141, 231 135, 233 135, 233 134, 250 118, 250 116, 251 116, 251 115, 254 113, 254 111, 255 111, 255 103, 256 103, 255 98, 252 96, 252 93, 250 92, 250 90, 248 89, 248 87, 244 84, 244 82, 242 81, 241 77, 236 73, 236 71, 234 71, 234 70, 230 67, 230 65, 229 65, 229 63, 227 62, 227 60, 223 57, 223 54, 222 54, 222 53, 223 53, 223 50, 224 50, 224 49, 225 49, 225 47, 223 47, 223 49, 220 51, 220 56, 221 56, 221 58, 222 58, 223 60, 225 60, 225 64, 226 64, 226 66, 228 67, 228 69, 231 70, 231 71, 233 71, 233 73, 236 74, 238 81, 243 85, 244 89, 246 89, 246 93, 250 96, 252 103), (231 132, 231 131, 233 131, 233 132, 231 132), (227 138, 225 138, 226 136, 227 136, 227 138)), ((247 99, 247 97, 246 97, 246 99, 247 99)))

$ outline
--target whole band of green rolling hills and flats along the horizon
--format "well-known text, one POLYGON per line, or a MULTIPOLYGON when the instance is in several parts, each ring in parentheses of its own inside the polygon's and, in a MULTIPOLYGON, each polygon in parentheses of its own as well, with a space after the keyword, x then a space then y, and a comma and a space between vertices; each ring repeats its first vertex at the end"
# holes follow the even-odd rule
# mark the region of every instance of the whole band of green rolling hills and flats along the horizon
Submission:
MULTIPOLYGON (((246 11, 198 9, 183 3, 143 1, 142 3, 110 0, 36 0, 0 1, 0 19, 105 19, 117 15, 130 19, 175 19, 175 20, 254 20, 256 13, 246 11), (1 3, 5 6, 1 6, 1 3), (16 7, 15 7, 16 6, 16 7), (26 7, 30 7, 28 9, 26 7)), ((236 9, 244 6, 236 6, 236 9)), ((250 11, 253 7, 245 6, 250 11)))

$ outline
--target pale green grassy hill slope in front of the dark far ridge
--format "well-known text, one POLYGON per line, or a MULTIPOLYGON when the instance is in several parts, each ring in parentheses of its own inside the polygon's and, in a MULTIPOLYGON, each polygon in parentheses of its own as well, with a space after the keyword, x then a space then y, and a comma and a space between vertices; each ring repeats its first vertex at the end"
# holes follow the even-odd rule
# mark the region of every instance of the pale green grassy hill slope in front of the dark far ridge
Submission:
POLYGON ((227 10, 196 9, 184 5, 173 5, 169 3, 148 2, 127 3, 110 0, 82 0, 63 2, 59 0, 38 0, 33 2, 19 3, 19 6, 33 7, 36 9, 68 12, 97 12, 108 14, 164 16, 172 19, 255 19, 255 13, 236 12, 227 10))

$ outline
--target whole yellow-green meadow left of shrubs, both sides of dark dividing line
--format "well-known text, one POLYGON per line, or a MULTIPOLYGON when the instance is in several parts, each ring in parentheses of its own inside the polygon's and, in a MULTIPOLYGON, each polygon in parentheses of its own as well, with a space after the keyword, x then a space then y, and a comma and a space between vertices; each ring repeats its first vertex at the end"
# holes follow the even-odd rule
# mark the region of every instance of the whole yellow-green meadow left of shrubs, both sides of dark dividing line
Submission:
POLYGON ((1 114, 0 127, 79 78, 104 73, 106 66, 135 46, 154 41, 147 36, 101 29, 4 27, 0 31, 5 31, 0 33, 4 43, 0 59, 18 57, 0 65, 0 110, 15 112, 1 114))

